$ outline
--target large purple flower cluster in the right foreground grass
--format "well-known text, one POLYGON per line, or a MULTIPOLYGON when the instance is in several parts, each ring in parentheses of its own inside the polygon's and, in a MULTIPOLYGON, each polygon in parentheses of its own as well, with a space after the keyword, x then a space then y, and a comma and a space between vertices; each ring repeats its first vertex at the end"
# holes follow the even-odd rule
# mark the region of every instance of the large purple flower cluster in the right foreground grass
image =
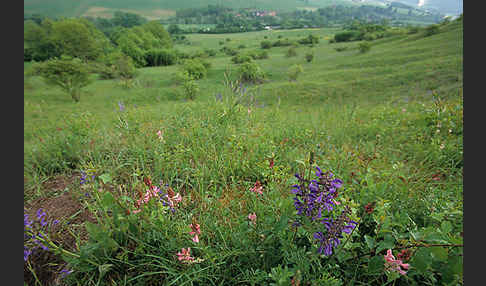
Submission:
POLYGON ((331 172, 322 172, 319 167, 316 167, 315 175, 317 178, 313 180, 307 180, 300 174, 295 175, 299 183, 293 186, 292 193, 295 195, 294 207, 300 218, 294 222, 294 226, 302 226, 304 220, 317 228, 323 225, 322 231, 314 232, 313 237, 319 244, 318 253, 330 256, 340 244, 343 233, 350 234, 358 223, 351 220, 349 206, 344 206, 335 217, 336 207, 340 205, 336 200, 338 189, 343 182, 333 178, 331 172))

